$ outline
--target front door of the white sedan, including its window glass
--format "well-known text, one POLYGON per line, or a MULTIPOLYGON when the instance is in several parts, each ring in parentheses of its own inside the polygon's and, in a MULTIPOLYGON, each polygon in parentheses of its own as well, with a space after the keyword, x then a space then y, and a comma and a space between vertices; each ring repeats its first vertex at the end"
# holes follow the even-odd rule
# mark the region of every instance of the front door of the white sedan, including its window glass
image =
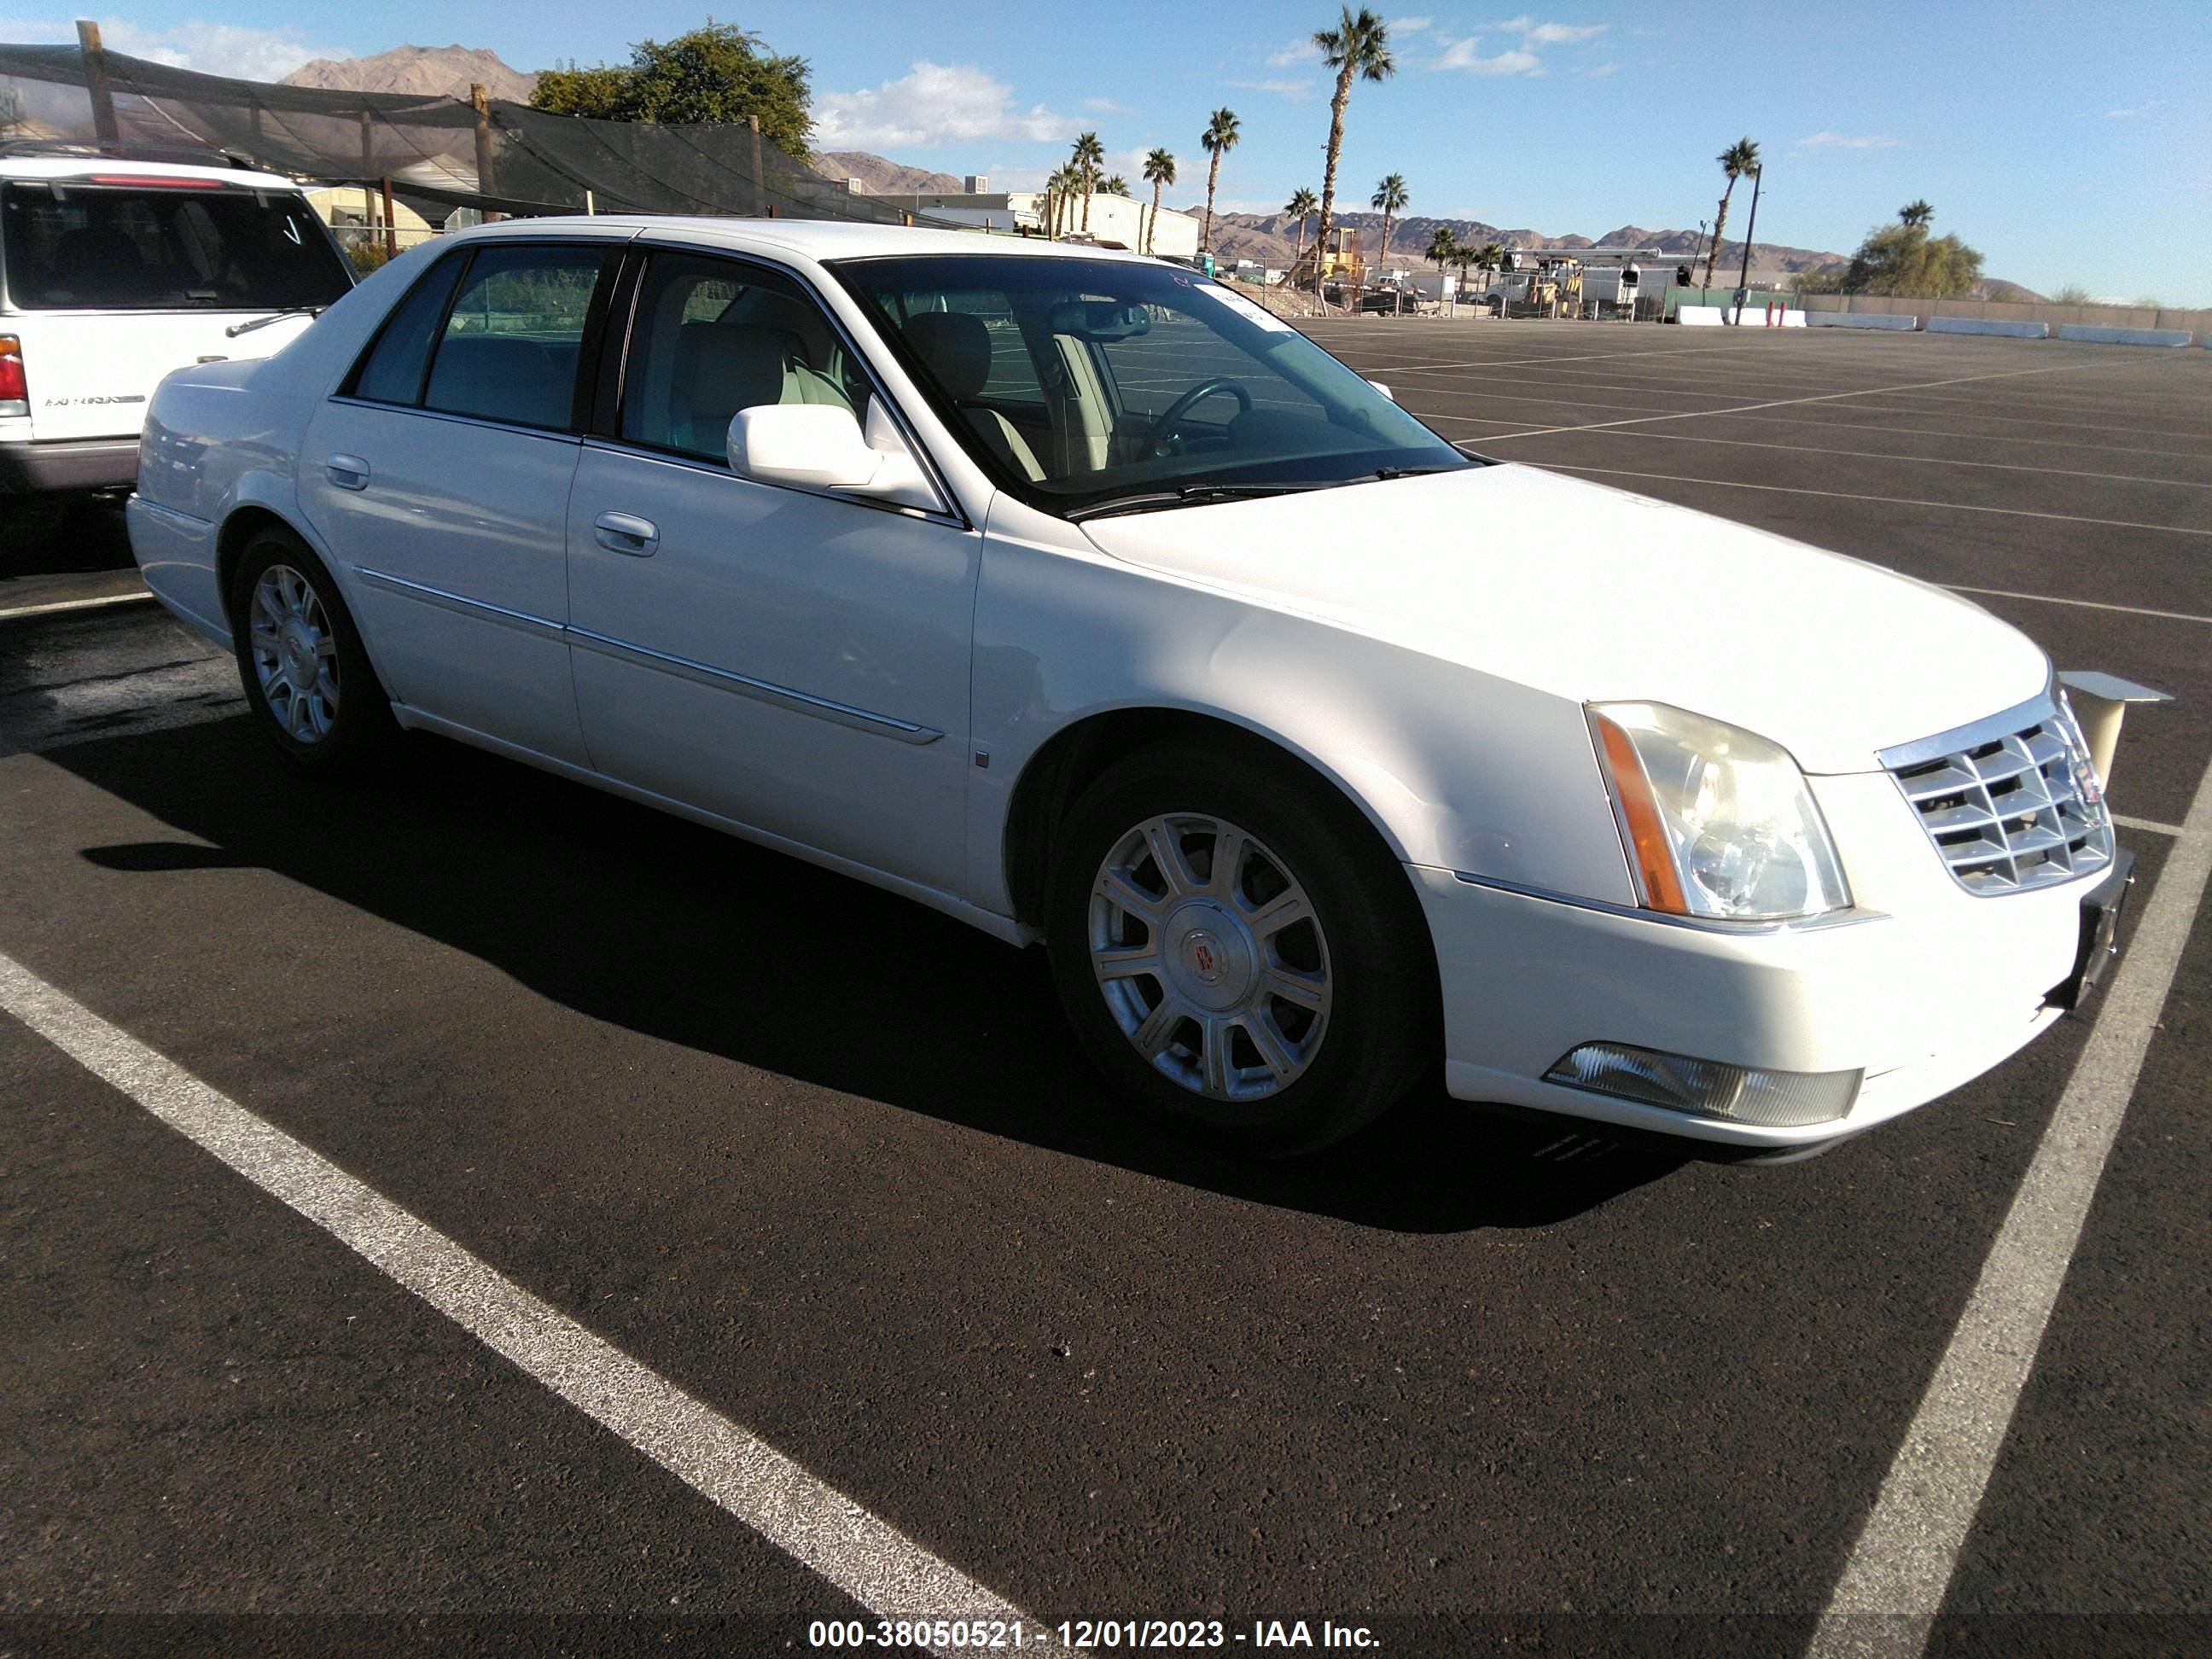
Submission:
POLYGON ((792 276, 655 252, 568 498, 575 695, 622 783, 960 891, 980 538, 754 484, 730 416, 880 396, 792 276))

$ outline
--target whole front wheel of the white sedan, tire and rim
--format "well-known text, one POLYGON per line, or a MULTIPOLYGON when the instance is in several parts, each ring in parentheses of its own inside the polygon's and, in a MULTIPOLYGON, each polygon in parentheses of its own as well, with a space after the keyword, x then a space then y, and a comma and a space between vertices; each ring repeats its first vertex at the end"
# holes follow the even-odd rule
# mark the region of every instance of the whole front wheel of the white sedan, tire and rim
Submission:
POLYGON ((1150 1117, 1259 1155, 1327 1146, 1433 1064, 1427 925, 1374 827, 1259 745, 1108 770, 1062 825, 1053 978, 1150 1117))

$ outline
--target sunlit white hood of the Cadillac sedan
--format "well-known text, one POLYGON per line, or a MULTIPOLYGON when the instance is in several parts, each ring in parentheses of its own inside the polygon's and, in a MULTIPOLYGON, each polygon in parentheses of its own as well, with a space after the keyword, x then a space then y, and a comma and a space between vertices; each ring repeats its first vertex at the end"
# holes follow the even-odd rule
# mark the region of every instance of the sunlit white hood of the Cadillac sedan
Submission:
POLYGON ((1573 701, 1741 726, 1807 772, 1874 770, 2051 679, 2035 641, 1953 593, 1511 462, 1082 529, 1110 557, 1573 701))

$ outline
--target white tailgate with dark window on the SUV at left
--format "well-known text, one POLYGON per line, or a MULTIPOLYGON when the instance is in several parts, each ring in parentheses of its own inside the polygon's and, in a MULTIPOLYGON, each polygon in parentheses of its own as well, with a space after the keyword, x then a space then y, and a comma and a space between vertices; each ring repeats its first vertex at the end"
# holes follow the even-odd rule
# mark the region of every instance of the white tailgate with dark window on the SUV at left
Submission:
POLYGON ((135 436, 164 374, 270 356, 307 319, 230 327, 352 288, 299 192, 188 175, 7 181, 0 272, 38 440, 135 436))

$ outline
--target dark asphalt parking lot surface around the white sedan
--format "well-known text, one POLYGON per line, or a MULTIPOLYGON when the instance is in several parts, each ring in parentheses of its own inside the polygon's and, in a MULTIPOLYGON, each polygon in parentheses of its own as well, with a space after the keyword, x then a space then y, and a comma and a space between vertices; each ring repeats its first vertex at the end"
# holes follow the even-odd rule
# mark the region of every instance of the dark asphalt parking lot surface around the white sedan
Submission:
MULTIPOLYGON (((1223 1166, 1130 1133, 1033 956, 438 741, 303 785, 153 606, 0 619, 0 964, 128 1084, 0 1015, 0 1650, 805 1648, 863 1617, 867 1517, 1051 1626, 1232 1648, 2212 1646, 2212 929, 2157 898, 2212 838, 2212 352, 1312 334, 1469 449, 1958 586, 2174 692, 2112 790, 2130 929, 2179 949, 2141 1033, 2106 1002, 1785 1168, 1440 1093, 1223 1166), (546 1387, 476 1292, 365 1259, 367 1199, 310 1221, 157 1121, 164 1062, 323 1161, 274 1181, 365 1183, 451 1248, 429 1281, 495 1270, 604 1352, 546 1387), (2033 1301, 2008 1212, 2099 1091, 2108 1161, 2048 1137, 2086 1221, 2028 1241, 2055 1305, 2022 1345, 1978 1310, 2033 1301), (2033 1356, 2017 1409, 1978 1343, 2033 1356), (1993 1467, 1944 1546, 1958 1467, 1891 1471, 1951 1376, 1993 1467), (823 1486, 763 1537, 639 1451, 644 1378, 823 1486), (810 1515, 821 1571, 768 1542, 810 1515), (1823 1624, 1896 1566, 1885 1528, 1936 1548, 1933 1628, 1823 1624)), ((113 522, 69 535, 51 564, 119 557, 113 522)))

